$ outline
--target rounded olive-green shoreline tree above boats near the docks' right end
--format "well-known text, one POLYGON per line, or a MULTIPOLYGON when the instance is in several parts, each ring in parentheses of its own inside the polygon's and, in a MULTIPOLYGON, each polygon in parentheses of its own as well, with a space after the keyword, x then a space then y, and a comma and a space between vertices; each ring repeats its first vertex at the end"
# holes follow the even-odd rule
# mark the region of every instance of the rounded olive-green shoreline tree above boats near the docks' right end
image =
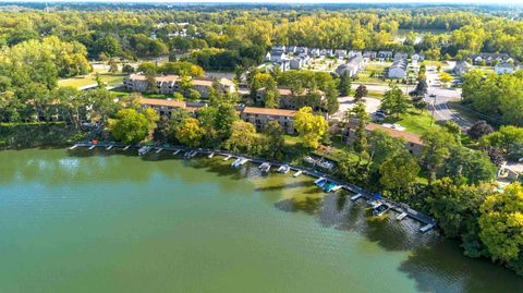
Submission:
POLYGON ((379 183, 396 196, 411 186, 417 179, 419 166, 409 152, 403 152, 388 158, 380 167, 379 183))

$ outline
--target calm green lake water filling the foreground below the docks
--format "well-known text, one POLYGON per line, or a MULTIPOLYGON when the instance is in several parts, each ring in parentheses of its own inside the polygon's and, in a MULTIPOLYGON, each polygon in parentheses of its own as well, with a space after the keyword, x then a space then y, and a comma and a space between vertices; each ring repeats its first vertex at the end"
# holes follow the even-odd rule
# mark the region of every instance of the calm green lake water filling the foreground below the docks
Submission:
POLYGON ((436 231, 221 157, 0 151, 0 292, 522 292, 436 231))

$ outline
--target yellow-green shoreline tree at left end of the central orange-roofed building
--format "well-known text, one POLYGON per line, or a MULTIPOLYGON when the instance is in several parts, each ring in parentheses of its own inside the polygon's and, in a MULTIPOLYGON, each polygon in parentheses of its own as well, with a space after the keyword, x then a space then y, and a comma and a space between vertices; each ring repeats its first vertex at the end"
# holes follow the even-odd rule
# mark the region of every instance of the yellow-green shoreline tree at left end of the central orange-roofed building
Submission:
POLYGON ((257 146, 256 129, 252 123, 238 120, 232 123, 231 136, 223 142, 223 147, 233 152, 253 154, 257 146))

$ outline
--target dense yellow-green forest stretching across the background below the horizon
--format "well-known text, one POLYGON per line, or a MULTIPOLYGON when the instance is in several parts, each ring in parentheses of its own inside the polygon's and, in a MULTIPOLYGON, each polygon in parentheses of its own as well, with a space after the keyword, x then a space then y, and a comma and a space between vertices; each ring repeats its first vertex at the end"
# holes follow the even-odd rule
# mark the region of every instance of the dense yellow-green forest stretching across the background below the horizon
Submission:
MULTIPOLYGON (((48 10, 49 11, 49 10, 48 10)), ((445 7, 417 9, 187 9, 0 13, 0 45, 48 36, 77 41, 89 59, 158 57, 204 49, 191 58, 205 68, 234 69, 263 60, 275 44, 356 50, 423 51, 463 59, 506 52, 523 60, 523 22, 445 7), (412 30, 403 42, 400 29, 412 30), (415 32, 429 32, 417 34, 415 32), (431 33, 430 33, 431 32, 431 33)), ((174 58, 174 57, 173 57, 174 58)))

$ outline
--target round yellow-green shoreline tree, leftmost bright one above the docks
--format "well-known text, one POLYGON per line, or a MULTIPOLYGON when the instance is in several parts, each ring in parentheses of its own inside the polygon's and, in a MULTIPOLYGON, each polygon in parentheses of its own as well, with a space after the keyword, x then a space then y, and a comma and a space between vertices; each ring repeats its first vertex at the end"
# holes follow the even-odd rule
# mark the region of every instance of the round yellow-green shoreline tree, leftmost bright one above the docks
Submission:
POLYGON ((114 139, 123 144, 136 144, 145 139, 148 126, 145 115, 134 109, 118 111, 117 120, 109 124, 114 139))

